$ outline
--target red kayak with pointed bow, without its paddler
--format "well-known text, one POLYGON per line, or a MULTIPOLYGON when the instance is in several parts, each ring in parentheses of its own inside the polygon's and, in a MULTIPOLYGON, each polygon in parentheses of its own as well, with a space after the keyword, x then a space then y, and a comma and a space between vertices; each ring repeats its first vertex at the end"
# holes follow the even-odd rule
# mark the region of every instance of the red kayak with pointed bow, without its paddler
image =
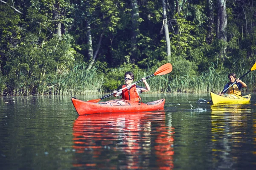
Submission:
POLYGON ((147 103, 138 103, 123 99, 93 103, 85 102, 73 97, 72 102, 79 115, 87 115, 93 113, 133 113, 163 110, 165 99, 147 103))

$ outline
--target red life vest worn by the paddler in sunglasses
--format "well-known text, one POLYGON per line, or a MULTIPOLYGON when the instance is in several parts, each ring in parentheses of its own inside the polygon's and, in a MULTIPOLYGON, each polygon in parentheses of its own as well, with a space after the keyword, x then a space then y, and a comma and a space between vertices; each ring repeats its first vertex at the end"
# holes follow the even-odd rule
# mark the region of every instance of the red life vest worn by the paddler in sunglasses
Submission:
MULTIPOLYGON (((126 85, 122 85, 122 88, 125 88, 125 87, 126 85)), ((136 85, 132 85, 129 90, 127 88, 122 90, 122 99, 131 100, 134 102, 140 102, 141 99, 139 94, 137 93, 136 85)))

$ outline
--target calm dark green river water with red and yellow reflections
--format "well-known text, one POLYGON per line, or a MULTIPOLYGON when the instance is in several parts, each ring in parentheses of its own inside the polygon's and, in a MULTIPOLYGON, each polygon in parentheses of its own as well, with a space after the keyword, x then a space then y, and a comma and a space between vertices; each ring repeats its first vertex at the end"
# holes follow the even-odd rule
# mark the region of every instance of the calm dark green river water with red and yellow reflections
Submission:
MULTIPOLYGON (((76 96, 85 101, 100 97, 76 96)), ((142 98, 165 98, 165 111, 78 116, 71 96, 1 97, 0 167, 256 169, 256 94, 246 105, 207 104, 209 94, 142 98)))

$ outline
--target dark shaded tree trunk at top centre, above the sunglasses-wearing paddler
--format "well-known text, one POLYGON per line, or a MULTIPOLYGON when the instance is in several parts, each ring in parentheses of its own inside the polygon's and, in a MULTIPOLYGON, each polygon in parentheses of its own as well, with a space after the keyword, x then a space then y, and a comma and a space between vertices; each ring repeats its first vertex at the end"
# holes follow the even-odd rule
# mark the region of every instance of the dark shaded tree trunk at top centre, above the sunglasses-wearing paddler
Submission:
POLYGON ((137 0, 131 0, 131 6, 132 6, 131 62, 135 63, 139 55, 138 49, 137 49, 137 35, 139 33, 138 20, 140 15, 139 15, 139 7, 138 7, 137 0))

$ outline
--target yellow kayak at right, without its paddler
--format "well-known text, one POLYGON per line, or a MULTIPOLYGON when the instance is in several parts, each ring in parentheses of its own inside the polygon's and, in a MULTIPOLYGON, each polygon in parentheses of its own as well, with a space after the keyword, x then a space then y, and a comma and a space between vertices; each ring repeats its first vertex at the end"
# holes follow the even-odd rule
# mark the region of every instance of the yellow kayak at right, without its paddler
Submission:
POLYGON ((234 104, 244 104, 250 102, 250 94, 246 96, 237 96, 235 94, 224 94, 219 96, 218 94, 211 92, 211 98, 213 104, 221 103, 234 103, 234 104))

